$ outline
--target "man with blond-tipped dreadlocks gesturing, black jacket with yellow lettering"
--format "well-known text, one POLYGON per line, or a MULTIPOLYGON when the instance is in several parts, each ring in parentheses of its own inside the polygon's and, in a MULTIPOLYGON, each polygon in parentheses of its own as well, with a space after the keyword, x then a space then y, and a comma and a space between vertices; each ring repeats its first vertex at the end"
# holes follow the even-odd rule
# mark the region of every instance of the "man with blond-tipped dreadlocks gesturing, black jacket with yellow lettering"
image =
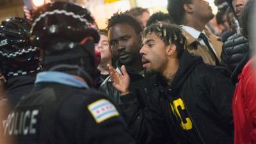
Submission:
POLYGON ((158 74, 148 86, 129 92, 129 75, 109 65, 120 109, 138 143, 232 143, 231 101, 234 86, 225 68, 206 65, 189 54, 186 39, 172 24, 158 22, 143 33, 143 67, 158 74), (148 105, 138 99, 148 97, 148 105), (132 113, 133 112, 133 113, 132 113))

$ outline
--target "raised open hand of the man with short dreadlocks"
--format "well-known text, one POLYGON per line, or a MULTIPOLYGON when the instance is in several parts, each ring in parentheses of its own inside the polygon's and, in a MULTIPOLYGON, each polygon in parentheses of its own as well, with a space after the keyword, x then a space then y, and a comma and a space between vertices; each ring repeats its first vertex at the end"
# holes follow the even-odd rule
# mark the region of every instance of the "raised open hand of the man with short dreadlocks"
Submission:
POLYGON ((121 70, 123 75, 116 72, 115 68, 108 64, 109 76, 113 81, 113 86, 121 93, 121 95, 126 95, 129 93, 130 77, 126 72, 124 65, 121 67, 121 70))

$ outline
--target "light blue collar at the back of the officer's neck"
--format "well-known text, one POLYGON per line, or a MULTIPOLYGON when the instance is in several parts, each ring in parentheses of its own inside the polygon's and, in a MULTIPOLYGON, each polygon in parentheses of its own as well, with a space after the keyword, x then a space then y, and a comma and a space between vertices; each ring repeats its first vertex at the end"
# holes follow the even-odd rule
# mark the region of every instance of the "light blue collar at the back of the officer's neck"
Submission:
POLYGON ((89 88, 88 84, 84 81, 79 81, 76 77, 66 74, 64 72, 40 72, 36 76, 36 83, 60 83, 77 88, 89 88))

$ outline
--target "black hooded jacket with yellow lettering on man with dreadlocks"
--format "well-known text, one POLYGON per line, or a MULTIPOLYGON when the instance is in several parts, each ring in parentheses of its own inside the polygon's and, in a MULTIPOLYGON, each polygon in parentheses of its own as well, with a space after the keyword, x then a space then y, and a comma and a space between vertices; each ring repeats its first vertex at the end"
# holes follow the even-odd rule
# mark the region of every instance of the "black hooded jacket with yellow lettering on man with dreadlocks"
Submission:
POLYGON ((122 96, 119 108, 138 143, 233 143, 229 75, 184 52, 171 86, 152 76, 144 80, 149 86, 122 96))

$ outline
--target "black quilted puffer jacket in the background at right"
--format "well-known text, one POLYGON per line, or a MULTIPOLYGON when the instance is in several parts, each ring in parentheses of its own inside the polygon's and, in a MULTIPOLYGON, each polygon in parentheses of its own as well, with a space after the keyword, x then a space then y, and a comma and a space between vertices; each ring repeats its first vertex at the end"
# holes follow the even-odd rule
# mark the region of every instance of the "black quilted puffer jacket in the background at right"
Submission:
POLYGON ((221 52, 221 66, 227 67, 233 72, 248 51, 248 40, 244 38, 241 33, 235 33, 230 36, 223 45, 223 51, 221 52))

